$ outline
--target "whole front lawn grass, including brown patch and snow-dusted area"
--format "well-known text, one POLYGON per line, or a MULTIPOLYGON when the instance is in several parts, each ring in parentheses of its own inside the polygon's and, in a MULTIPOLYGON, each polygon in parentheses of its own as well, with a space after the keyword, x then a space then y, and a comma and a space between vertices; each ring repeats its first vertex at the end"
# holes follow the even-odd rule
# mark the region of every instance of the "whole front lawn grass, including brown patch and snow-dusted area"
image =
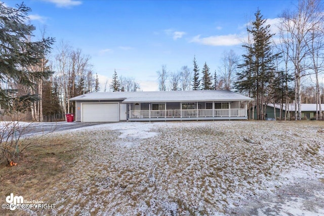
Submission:
POLYGON ((33 210, 42 215, 226 214, 228 205, 280 187, 283 172, 312 175, 310 168, 323 165, 324 122, 152 125, 157 135, 148 139, 107 129, 44 138, 46 145, 26 151, 18 166, 0 167, 0 200, 14 193, 56 204, 33 210))

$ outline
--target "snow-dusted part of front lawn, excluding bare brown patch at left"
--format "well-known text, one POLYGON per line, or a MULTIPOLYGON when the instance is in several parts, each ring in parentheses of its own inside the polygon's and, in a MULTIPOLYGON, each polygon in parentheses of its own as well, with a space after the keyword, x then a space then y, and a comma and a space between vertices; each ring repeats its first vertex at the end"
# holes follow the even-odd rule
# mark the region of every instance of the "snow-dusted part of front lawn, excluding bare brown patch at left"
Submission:
POLYGON ((42 197, 56 204, 51 214, 227 215, 324 178, 324 122, 119 122, 66 133, 86 148, 42 197))

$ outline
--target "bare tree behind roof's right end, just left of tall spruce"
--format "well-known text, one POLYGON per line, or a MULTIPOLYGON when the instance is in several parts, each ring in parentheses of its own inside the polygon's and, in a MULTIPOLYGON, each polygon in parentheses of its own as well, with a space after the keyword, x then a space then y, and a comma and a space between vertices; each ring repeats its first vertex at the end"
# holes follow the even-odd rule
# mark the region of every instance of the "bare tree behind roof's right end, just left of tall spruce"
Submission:
POLYGON ((230 90, 233 83, 233 77, 236 73, 238 56, 233 50, 224 51, 221 59, 222 66, 219 68, 221 71, 221 80, 223 82, 223 89, 230 90))

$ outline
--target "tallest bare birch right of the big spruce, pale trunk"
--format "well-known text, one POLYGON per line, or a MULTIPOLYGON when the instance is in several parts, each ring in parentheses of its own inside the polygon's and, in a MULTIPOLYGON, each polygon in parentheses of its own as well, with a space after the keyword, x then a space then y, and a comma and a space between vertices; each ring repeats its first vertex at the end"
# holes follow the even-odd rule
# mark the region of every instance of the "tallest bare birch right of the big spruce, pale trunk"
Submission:
POLYGON ((301 119, 301 77, 306 74, 308 45, 311 43, 311 30, 317 29, 322 21, 321 3, 319 0, 299 1, 296 11, 282 13, 280 30, 287 36, 282 39, 288 47, 289 60, 294 65, 295 76, 295 119, 301 119), (287 40, 289 38, 289 40, 287 40))

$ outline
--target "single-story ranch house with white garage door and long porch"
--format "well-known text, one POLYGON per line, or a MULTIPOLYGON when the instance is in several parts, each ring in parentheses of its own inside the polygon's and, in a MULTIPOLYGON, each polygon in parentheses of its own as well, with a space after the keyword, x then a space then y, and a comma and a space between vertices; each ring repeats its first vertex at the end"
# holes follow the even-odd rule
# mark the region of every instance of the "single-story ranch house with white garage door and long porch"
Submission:
POLYGON ((157 121, 248 119, 252 98, 226 90, 95 92, 75 101, 75 121, 157 121))

